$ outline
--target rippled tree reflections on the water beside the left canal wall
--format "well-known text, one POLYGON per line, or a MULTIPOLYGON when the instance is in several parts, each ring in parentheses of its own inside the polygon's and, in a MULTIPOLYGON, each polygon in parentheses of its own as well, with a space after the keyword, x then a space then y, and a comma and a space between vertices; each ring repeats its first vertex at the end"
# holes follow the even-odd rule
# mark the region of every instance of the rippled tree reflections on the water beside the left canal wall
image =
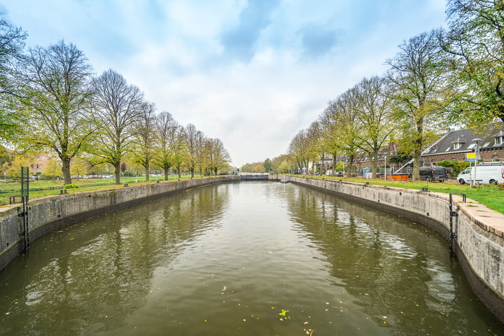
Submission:
POLYGON ((229 187, 179 193, 34 241, 26 260, 0 273, 0 335, 74 335, 122 325, 146 302, 155 269, 221 218, 229 187))

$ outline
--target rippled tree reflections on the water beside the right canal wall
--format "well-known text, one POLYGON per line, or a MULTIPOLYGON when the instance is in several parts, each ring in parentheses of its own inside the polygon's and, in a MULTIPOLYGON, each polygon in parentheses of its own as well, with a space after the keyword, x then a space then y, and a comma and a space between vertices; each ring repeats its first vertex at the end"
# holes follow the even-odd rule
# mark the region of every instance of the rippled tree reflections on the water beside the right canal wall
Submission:
POLYGON ((461 294, 470 289, 435 232, 318 190, 286 191, 291 218, 330 262, 335 286, 374 321, 397 335, 470 328, 463 307, 474 295, 461 294))

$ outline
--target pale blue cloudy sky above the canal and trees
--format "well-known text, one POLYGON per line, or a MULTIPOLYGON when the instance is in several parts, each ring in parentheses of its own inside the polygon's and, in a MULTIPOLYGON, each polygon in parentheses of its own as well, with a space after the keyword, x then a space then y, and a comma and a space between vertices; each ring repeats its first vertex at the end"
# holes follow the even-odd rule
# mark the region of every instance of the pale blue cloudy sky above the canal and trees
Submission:
POLYGON ((444 0, 0 0, 27 48, 61 40, 99 76, 137 85, 232 165, 287 153, 328 102, 409 38, 444 27, 444 0))

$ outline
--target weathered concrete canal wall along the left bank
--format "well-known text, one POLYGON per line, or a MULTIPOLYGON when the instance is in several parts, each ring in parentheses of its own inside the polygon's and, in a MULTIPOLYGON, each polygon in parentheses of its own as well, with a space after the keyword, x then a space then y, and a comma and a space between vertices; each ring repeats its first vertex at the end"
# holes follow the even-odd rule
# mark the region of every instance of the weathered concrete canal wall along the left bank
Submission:
MULTIPOLYGON (((28 204, 28 238, 29 241, 33 241, 65 225, 169 193, 236 179, 238 179, 237 176, 217 176, 71 193, 32 200, 28 204)), ((25 248, 25 237, 21 236, 23 218, 18 216, 21 212, 20 206, 0 212, 0 269, 25 248)))

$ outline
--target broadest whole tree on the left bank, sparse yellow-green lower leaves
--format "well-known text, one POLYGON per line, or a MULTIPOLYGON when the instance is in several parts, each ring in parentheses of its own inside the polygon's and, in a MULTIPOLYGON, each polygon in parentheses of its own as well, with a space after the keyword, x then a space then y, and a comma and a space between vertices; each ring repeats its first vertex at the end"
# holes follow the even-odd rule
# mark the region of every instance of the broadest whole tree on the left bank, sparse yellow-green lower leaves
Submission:
POLYGON ((64 41, 29 50, 20 73, 29 113, 25 147, 41 146, 57 153, 64 183, 71 183, 70 162, 83 151, 96 130, 90 113, 91 66, 83 52, 64 41))

